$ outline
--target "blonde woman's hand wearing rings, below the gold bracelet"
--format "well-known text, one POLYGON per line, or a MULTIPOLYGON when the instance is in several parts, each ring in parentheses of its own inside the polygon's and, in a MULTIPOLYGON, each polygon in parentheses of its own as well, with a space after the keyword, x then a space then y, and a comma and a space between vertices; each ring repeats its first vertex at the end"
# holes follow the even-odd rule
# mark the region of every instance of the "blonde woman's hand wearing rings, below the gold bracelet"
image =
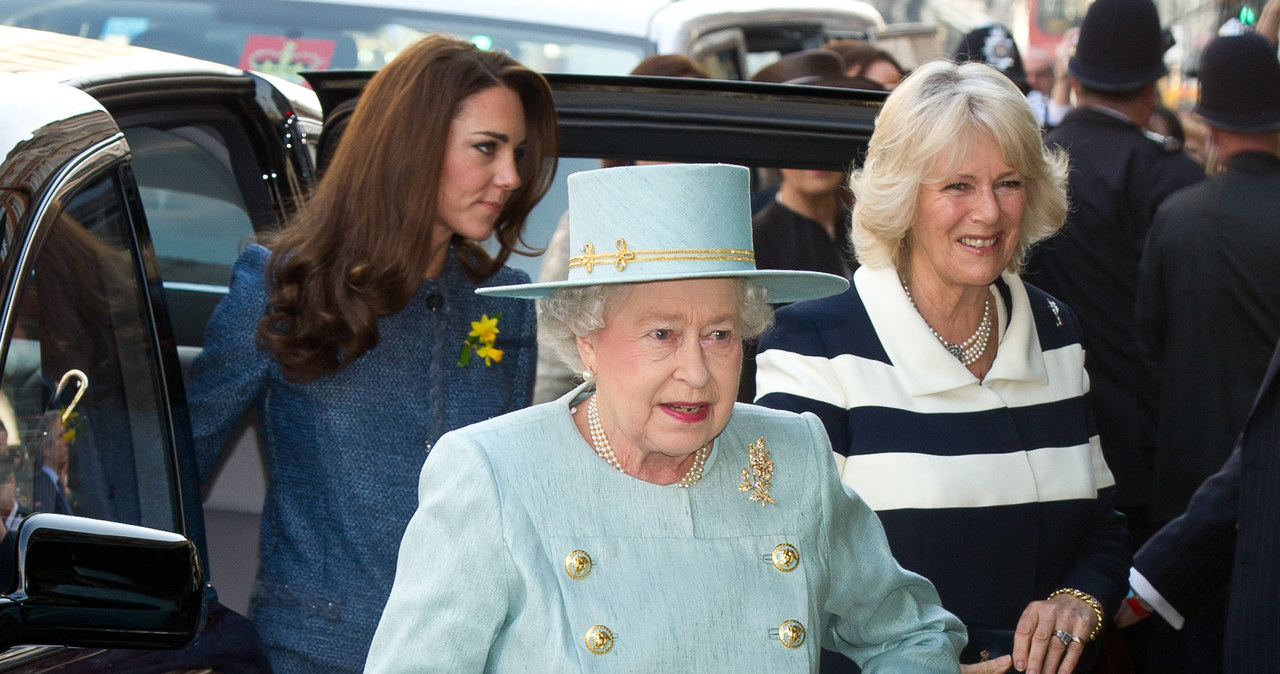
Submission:
POLYGON ((1097 622, 1087 602, 1069 595, 1030 602, 1014 633, 1014 668, 1027 674, 1070 674, 1097 622), (1059 633, 1066 634, 1066 645, 1059 633))

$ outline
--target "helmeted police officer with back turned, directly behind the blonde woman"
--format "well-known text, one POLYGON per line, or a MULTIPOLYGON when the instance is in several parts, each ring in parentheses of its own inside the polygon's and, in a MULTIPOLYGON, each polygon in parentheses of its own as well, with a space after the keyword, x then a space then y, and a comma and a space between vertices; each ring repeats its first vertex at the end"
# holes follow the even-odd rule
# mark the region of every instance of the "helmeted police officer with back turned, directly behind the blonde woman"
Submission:
POLYGON ((1079 105, 1044 138, 1071 157, 1071 207, 1061 233, 1032 251, 1025 274, 1080 318, 1102 451, 1139 542, 1149 535, 1152 404, 1138 359, 1138 260, 1160 202, 1204 178, 1190 157, 1143 132, 1169 72, 1165 49, 1151 0, 1089 6, 1069 65, 1079 105))

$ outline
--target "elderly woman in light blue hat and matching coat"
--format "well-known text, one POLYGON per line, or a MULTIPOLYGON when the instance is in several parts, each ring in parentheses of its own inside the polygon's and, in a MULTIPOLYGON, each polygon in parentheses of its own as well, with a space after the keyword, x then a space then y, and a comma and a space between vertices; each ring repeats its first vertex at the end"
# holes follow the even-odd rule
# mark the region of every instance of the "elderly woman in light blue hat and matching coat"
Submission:
POLYGON ((847 286, 755 270, 748 175, 570 176, 568 280, 483 292, 539 298, 586 382, 435 445, 366 671, 959 671, 822 423, 735 404, 767 302, 847 286))

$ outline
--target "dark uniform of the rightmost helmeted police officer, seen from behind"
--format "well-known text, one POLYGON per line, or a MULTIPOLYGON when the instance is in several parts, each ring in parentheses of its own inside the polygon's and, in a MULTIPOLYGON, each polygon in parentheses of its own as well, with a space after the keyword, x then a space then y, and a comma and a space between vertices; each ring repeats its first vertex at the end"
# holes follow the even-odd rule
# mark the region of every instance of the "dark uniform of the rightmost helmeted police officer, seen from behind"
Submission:
POLYGON ((1162 523, 1230 455, 1280 339, 1280 157, 1236 153, 1160 207, 1138 327, 1157 384, 1151 514, 1162 523))

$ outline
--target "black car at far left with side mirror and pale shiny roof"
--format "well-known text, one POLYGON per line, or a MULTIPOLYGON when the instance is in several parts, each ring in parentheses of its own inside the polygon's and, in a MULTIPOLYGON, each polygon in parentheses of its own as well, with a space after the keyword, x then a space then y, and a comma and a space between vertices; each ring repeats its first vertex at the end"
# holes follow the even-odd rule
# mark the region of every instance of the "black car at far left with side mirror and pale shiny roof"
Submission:
POLYGON ((209 584, 179 354, 243 240, 314 184, 314 95, 136 47, 0 41, 0 670, 262 669, 209 584))

